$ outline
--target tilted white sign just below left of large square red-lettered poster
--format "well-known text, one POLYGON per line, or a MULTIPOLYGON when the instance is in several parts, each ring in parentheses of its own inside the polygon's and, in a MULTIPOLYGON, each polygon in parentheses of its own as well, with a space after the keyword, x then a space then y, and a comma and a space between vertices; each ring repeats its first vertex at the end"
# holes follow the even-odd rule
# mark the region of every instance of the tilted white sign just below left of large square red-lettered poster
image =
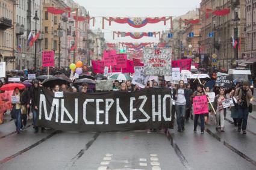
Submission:
POLYGON ((140 88, 145 88, 149 79, 149 76, 147 76, 144 73, 143 67, 134 67, 134 76, 131 83, 134 85, 138 85, 140 88))

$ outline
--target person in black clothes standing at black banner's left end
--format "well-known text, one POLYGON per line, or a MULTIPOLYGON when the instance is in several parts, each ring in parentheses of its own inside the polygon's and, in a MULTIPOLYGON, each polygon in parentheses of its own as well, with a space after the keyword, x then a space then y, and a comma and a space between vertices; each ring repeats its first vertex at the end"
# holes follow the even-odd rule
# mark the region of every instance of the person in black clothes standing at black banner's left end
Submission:
POLYGON ((30 95, 31 95, 31 112, 33 113, 33 125, 35 129, 35 133, 38 133, 39 131, 39 128, 36 126, 36 119, 38 116, 38 109, 39 109, 39 106, 38 106, 39 94, 40 94, 39 81, 34 80, 34 85, 30 89, 30 95))

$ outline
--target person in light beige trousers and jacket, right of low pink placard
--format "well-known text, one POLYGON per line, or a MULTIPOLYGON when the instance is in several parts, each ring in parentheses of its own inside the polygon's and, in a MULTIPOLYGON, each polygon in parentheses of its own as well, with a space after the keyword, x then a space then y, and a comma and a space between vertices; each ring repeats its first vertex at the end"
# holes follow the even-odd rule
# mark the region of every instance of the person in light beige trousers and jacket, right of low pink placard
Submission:
POLYGON ((216 130, 220 129, 221 132, 225 132, 224 123, 225 123, 226 109, 224 109, 222 106, 222 102, 224 100, 226 100, 225 88, 220 88, 219 94, 214 99, 213 108, 216 111, 216 122, 217 122, 216 130))

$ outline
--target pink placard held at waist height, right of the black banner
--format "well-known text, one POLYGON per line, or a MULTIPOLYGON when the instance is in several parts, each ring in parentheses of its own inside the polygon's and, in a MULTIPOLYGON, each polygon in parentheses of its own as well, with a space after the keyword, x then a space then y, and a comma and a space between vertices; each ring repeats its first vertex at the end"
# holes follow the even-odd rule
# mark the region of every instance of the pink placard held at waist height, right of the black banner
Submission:
POLYGON ((193 111, 195 115, 198 114, 207 114, 208 111, 208 100, 204 96, 195 96, 193 98, 193 111))

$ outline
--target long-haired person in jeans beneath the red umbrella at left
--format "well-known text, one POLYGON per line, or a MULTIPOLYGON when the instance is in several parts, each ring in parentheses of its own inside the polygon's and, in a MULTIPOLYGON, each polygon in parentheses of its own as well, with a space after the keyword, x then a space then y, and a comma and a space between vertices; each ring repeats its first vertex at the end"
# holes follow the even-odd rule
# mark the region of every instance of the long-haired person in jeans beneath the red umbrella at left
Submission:
POLYGON ((13 102, 13 114, 14 114, 14 123, 16 126, 16 132, 20 133, 21 128, 21 105, 20 105, 20 91, 19 88, 14 88, 13 96, 19 99, 15 103, 13 102))

